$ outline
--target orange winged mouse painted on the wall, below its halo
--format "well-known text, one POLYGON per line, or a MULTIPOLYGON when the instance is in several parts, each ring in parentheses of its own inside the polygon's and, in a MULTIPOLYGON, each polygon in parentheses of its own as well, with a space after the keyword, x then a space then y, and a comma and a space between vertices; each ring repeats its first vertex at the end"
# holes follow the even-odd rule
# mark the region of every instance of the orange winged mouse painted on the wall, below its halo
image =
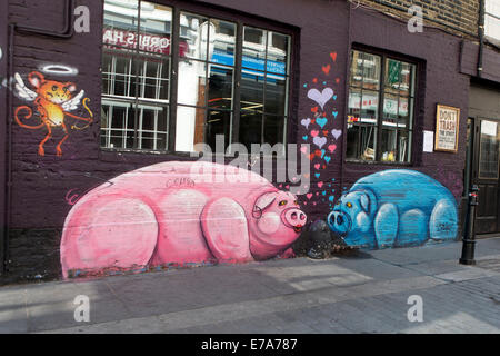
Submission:
POLYGON ((77 90, 77 86, 72 82, 61 82, 56 80, 48 80, 46 77, 38 71, 32 71, 28 75, 28 81, 33 87, 34 90, 29 89, 21 76, 19 73, 14 75, 14 92, 16 95, 26 100, 33 102, 34 113, 31 107, 20 106, 16 108, 14 119, 16 122, 30 130, 39 130, 42 128, 47 129, 47 136, 38 146, 38 155, 44 156, 44 144, 52 138, 54 129, 62 129, 63 137, 56 146, 57 156, 62 156, 62 144, 69 137, 68 121, 67 117, 76 120, 80 120, 84 123, 83 126, 78 126, 77 123, 71 125, 71 129, 82 130, 90 126, 92 122, 93 113, 88 107, 89 98, 84 98, 84 91, 81 90, 78 95, 73 96, 77 90), (83 98, 83 100, 82 100, 83 98), (80 101, 83 107, 89 112, 88 118, 82 118, 70 113, 69 111, 77 110, 80 106, 80 101), (20 117, 22 115, 22 117, 20 117), (38 122, 34 125, 27 125, 22 122, 23 120, 29 120, 32 116, 38 117, 38 122))

